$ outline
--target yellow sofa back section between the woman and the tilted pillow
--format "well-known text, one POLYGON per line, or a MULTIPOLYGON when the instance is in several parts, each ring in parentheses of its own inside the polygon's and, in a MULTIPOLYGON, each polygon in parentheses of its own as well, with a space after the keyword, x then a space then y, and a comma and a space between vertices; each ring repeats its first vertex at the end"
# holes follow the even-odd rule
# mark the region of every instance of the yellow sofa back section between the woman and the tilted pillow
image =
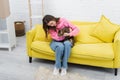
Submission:
POLYGON ((76 25, 80 32, 77 36, 75 36, 75 41, 79 43, 103 43, 100 39, 91 36, 91 31, 95 28, 95 25, 97 23, 89 22, 72 22, 74 25, 76 25))

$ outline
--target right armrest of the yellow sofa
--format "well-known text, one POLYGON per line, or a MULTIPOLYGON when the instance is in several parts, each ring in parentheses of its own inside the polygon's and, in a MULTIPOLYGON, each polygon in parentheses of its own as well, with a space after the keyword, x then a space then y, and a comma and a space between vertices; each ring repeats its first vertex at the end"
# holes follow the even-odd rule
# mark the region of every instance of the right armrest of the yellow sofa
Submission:
POLYGON ((113 48, 114 68, 120 68, 120 30, 115 34, 113 48))

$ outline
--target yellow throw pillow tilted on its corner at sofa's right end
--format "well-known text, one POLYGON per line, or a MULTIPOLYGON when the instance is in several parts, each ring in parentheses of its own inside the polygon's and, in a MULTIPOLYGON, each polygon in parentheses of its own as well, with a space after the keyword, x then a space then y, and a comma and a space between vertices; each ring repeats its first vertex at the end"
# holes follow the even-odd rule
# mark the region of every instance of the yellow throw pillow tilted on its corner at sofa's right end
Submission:
POLYGON ((105 16, 101 17, 100 22, 92 32, 92 36, 101 39, 104 42, 112 42, 119 26, 111 23, 105 16))

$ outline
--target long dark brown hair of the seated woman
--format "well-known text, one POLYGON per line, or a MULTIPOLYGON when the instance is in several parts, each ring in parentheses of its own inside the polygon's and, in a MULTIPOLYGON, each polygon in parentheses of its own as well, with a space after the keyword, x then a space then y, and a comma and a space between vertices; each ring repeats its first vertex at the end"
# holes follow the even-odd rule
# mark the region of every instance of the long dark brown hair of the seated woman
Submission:
MULTIPOLYGON (((56 18, 52 15, 45 15, 42 19, 42 22, 43 22, 43 30, 45 32, 45 35, 46 35, 46 38, 48 37, 48 30, 51 28, 50 26, 48 26, 47 24, 50 22, 50 21, 56 21, 58 22, 59 21, 59 18, 56 18)), ((55 27, 56 28, 56 27, 55 27)))

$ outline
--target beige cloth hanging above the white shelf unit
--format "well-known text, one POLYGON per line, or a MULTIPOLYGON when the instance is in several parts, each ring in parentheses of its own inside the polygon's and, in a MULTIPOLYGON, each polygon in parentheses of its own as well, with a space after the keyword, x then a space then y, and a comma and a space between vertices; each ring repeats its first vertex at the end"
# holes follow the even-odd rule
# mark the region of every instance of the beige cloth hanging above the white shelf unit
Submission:
POLYGON ((9 0, 0 0, 0 18, 5 19, 9 15, 9 0))

